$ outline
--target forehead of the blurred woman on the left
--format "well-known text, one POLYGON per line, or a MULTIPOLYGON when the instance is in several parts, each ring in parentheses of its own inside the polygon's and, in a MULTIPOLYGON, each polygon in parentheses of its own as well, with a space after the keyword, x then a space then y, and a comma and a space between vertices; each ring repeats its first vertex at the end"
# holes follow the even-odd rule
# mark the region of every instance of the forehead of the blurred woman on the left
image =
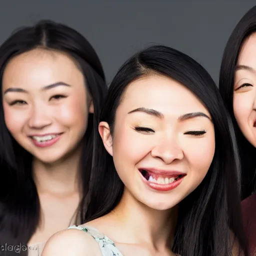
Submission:
POLYGON ((3 88, 11 86, 45 86, 57 81, 75 82, 83 79, 78 65, 67 54, 32 49, 14 56, 7 63, 2 77, 3 88))

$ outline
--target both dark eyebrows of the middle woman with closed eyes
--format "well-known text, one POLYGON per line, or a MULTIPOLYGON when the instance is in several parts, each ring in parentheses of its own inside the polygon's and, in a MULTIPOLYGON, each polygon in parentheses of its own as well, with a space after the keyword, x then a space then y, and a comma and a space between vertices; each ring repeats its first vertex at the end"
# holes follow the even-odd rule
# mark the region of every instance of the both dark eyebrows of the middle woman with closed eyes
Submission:
MULTIPOLYGON (((151 109, 151 108, 138 107, 136 109, 129 111, 128 113, 134 113, 134 112, 144 112, 144 113, 153 115, 153 116, 161 118, 161 119, 164 117, 164 115, 161 112, 151 109)), ((203 112, 191 112, 191 113, 182 114, 178 117, 178 121, 184 121, 184 120, 191 119, 194 117, 205 117, 211 121, 211 118, 203 112)))

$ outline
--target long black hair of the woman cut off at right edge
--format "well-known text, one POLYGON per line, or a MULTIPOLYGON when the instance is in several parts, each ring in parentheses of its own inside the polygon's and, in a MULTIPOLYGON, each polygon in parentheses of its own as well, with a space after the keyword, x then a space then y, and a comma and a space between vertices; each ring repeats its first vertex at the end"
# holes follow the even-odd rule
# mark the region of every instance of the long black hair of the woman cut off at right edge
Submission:
POLYGON ((249 196, 255 190, 256 148, 244 137, 234 117, 234 69, 242 43, 253 32, 256 32, 256 6, 244 14, 228 38, 219 74, 219 91, 232 118, 237 137, 242 172, 242 198, 249 196))

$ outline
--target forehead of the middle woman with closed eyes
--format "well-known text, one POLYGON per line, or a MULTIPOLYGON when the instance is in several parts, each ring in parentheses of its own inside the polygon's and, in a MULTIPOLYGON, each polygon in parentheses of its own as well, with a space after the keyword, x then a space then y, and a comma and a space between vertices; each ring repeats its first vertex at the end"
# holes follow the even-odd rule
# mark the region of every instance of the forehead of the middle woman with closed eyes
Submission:
POLYGON ((193 111, 208 113, 189 89, 163 75, 143 77, 127 86, 120 108, 130 111, 138 107, 153 108, 163 114, 179 115, 193 111))

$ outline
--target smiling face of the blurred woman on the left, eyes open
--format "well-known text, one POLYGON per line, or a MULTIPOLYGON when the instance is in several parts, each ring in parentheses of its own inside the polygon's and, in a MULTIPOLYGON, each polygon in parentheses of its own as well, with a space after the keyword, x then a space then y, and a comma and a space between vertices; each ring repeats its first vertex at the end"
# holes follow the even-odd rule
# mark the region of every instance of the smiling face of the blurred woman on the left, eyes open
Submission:
POLYGON ((85 80, 66 54, 36 48, 8 62, 2 77, 5 124, 34 157, 50 163, 73 151, 92 103, 85 80))

